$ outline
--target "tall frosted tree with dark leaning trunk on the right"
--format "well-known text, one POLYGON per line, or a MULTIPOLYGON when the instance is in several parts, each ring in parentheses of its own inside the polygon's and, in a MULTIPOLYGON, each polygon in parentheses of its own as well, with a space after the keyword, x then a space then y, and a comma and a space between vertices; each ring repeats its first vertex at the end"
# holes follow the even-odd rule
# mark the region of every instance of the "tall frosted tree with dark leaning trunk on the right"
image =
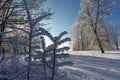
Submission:
POLYGON ((115 2, 108 0, 81 0, 81 18, 92 28, 102 53, 104 49, 98 35, 98 28, 101 22, 104 23, 105 16, 110 14, 114 5, 115 2))

